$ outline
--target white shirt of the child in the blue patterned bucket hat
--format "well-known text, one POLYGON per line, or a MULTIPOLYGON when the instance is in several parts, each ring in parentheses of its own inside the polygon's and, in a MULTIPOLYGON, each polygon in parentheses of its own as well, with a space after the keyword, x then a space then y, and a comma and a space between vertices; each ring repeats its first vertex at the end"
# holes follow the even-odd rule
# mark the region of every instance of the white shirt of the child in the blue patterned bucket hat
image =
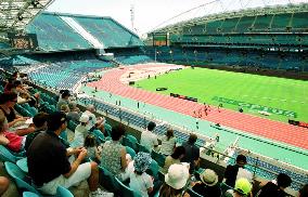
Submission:
POLYGON ((130 182, 129 187, 139 193, 142 197, 149 197, 147 188, 153 187, 153 180, 152 178, 143 172, 141 175, 136 173, 130 174, 130 182))

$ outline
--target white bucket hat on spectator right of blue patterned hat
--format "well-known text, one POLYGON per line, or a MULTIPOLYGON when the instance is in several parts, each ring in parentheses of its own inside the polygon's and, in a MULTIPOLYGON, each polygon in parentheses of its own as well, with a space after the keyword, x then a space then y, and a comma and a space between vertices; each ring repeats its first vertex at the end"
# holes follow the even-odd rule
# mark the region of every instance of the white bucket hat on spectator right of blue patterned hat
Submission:
POLYGON ((183 165, 171 165, 165 175, 167 185, 175 189, 183 188, 190 176, 189 169, 183 165))

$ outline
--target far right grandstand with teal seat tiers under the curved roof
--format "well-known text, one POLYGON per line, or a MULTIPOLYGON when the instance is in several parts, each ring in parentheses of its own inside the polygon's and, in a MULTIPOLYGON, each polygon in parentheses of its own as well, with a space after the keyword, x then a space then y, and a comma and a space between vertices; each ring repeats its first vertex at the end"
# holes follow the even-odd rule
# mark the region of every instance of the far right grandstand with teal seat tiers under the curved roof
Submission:
POLYGON ((269 6, 197 17, 149 34, 168 47, 147 50, 158 61, 198 66, 242 66, 307 71, 307 4, 269 6), (236 50, 234 50, 236 49, 236 50), (179 56, 176 56, 182 53, 179 56))

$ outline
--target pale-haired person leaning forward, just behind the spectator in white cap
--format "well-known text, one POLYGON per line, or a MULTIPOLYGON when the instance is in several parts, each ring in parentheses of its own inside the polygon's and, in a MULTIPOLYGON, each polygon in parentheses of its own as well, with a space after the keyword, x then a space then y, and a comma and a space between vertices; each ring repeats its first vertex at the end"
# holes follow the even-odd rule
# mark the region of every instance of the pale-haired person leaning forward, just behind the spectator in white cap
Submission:
POLYGON ((87 110, 84 113, 89 116, 89 124, 88 130, 92 131, 94 129, 100 130, 102 133, 104 133, 104 118, 99 117, 97 118, 95 115, 95 107, 94 105, 88 105, 87 110))

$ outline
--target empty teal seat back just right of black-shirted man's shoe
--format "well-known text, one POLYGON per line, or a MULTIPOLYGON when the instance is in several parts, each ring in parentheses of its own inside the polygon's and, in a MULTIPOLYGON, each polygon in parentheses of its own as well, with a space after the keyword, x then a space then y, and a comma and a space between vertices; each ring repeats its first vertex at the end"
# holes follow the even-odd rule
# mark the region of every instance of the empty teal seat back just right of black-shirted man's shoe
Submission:
POLYGON ((115 176, 105 168, 99 166, 100 170, 100 185, 102 185, 105 189, 117 193, 119 185, 117 184, 115 176))

